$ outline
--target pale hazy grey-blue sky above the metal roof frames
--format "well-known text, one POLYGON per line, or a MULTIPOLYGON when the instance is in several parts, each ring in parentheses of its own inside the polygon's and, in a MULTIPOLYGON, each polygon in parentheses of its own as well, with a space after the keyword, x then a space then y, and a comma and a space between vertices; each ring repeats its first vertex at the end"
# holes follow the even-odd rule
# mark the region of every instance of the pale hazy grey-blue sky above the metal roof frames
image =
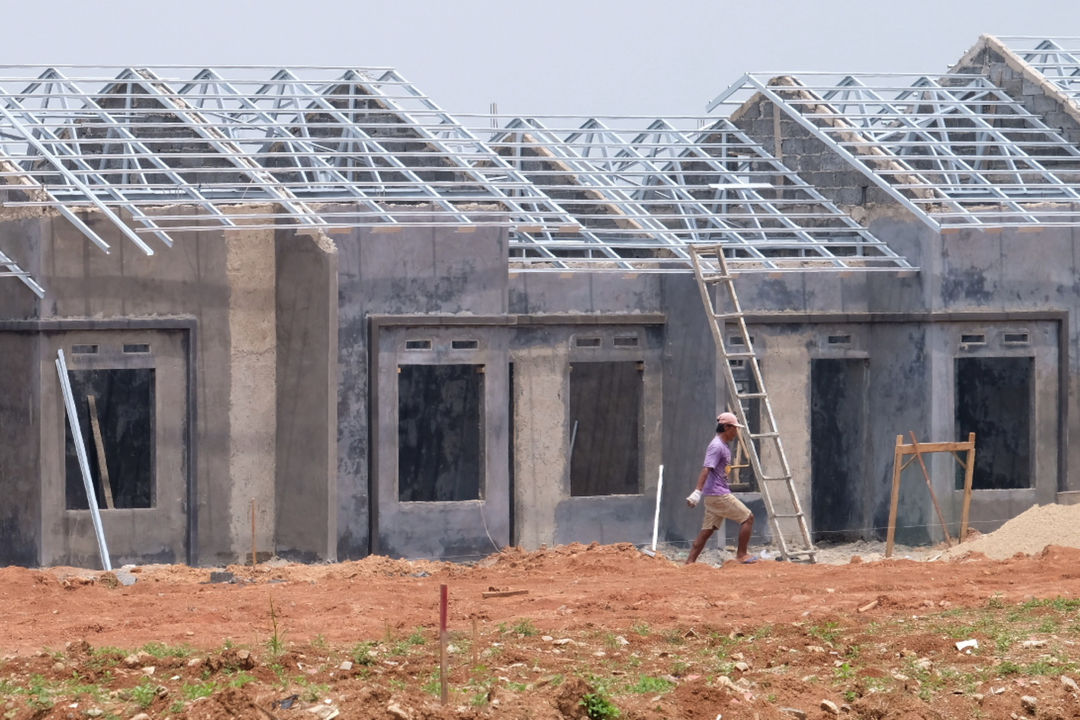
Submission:
POLYGON ((947 68, 1077 0, 0 0, 0 63, 391 66, 453 113, 683 116, 747 71, 947 68))

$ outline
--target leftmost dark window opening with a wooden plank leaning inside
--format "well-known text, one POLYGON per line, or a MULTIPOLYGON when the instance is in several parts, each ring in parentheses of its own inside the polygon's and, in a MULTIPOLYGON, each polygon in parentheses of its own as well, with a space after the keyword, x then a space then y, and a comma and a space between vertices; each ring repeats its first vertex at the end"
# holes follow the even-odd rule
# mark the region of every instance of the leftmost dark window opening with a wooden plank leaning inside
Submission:
MULTIPOLYGON (((153 507, 154 370, 71 370, 70 379, 98 505, 108 508, 111 497, 117 508, 153 507)), ((66 506, 89 510, 71 426, 64 426, 66 506)))

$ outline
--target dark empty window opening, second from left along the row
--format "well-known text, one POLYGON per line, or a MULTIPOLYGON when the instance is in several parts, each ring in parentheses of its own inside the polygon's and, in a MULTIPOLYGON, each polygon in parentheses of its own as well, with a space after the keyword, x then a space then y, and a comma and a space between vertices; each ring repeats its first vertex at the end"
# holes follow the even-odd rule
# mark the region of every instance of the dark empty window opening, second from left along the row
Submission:
POLYGON ((397 499, 478 500, 483 365, 402 365, 397 373, 397 499))

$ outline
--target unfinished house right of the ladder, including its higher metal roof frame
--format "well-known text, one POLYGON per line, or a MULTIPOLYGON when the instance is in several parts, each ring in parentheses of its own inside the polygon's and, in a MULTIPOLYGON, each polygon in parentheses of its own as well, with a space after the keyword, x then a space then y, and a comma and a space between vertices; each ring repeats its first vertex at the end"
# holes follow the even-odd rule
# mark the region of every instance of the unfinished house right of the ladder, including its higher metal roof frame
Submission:
MULTIPOLYGON (((883 526, 891 450, 910 431, 975 433, 976 527, 1078 489, 1067 438, 1080 149, 974 69, 752 74, 713 104, 920 268, 826 285, 740 281, 747 307, 772 311, 758 318, 766 363, 795 354, 805 370, 779 412, 796 420, 786 436, 810 471, 821 540, 883 526)), ((951 458, 931 470, 946 517, 959 517, 962 473, 951 458)), ((928 493, 908 487, 897 536, 941 539, 928 493)))

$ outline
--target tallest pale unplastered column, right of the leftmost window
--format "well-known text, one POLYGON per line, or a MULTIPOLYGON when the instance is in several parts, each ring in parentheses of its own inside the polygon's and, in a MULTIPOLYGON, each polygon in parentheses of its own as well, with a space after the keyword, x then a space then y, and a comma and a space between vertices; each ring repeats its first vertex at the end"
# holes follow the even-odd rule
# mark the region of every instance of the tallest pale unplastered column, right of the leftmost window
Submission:
POLYGON ((227 230, 229 282, 229 539, 238 558, 273 548, 276 328, 273 230, 227 230))

